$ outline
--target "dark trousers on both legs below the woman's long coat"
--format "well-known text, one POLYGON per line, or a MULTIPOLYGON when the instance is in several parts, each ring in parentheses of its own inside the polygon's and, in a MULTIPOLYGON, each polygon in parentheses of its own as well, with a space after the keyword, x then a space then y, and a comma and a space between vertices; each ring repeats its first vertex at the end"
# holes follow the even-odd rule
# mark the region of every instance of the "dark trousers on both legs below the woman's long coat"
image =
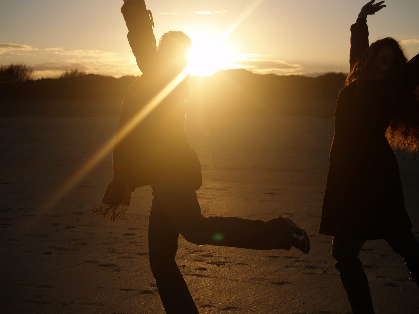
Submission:
MULTIPOLYGON (((337 261, 342 284, 354 313, 374 313, 367 276, 358 257, 365 239, 334 237, 332 256, 337 261)), ((404 258, 409 271, 419 287, 419 242, 411 230, 389 236, 385 242, 394 253, 404 258)))

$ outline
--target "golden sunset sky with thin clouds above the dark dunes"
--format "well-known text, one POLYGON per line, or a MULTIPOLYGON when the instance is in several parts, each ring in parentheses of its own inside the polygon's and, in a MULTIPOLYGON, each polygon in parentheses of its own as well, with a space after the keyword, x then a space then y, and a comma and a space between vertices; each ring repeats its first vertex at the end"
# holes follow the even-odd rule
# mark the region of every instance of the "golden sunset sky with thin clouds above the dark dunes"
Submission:
MULTIPOLYGON (((349 27, 366 0, 146 0, 158 40, 168 30, 192 39, 193 75, 246 68, 319 75, 349 70, 349 27), (197 57, 199 56, 199 57, 197 57)), ((0 65, 24 63, 35 77, 62 71, 140 75, 127 41, 123 0, 0 2, 0 65)), ((393 37, 419 53, 419 1, 386 0, 367 18, 370 43, 393 37)))

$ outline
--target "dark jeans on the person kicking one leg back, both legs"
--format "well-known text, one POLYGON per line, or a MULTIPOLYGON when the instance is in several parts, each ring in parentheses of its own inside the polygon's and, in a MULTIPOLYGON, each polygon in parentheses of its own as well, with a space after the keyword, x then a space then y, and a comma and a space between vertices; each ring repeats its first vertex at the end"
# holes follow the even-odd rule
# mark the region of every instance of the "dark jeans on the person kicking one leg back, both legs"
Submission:
POLYGON ((193 183, 170 176, 153 185, 148 222, 150 267, 167 313, 198 313, 175 261, 179 234, 197 245, 209 244, 256 250, 291 248, 285 219, 269 221, 238 217, 204 217, 193 183))

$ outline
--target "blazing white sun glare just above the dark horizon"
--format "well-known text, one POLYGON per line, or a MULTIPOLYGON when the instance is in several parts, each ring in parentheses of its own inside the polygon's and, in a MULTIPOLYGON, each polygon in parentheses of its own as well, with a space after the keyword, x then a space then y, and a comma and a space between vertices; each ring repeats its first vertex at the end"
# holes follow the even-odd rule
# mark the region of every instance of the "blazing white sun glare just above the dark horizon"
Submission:
POLYGON ((192 48, 189 51, 189 72, 191 75, 212 75, 228 69, 232 54, 221 40, 211 36, 191 36, 192 48))

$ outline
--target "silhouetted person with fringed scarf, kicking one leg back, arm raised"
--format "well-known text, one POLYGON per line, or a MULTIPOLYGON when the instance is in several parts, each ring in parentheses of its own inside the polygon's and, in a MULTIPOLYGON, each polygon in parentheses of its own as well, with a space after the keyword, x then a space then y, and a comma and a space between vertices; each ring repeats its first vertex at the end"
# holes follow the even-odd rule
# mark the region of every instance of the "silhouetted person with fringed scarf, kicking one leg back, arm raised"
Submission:
POLYGON ((310 242, 290 219, 269 221, 204 217, 195 192, 202 185, 197 155, 186 141, 185 99, 190 96, 185 68, 191 39, 183 32, 163 34, 157 47, 153 18, 144 0, 124 0, 121 8, 128 41, 143 73, 129 88, 121 108, 113 152, 114 179, 94 212, 115 220, 125 215, 131 192, 151 185, 148 224, 150 267, 168 313, 198 313, 175 261, 178 237, 202 245, 257 250, 297 247, 310 242))

